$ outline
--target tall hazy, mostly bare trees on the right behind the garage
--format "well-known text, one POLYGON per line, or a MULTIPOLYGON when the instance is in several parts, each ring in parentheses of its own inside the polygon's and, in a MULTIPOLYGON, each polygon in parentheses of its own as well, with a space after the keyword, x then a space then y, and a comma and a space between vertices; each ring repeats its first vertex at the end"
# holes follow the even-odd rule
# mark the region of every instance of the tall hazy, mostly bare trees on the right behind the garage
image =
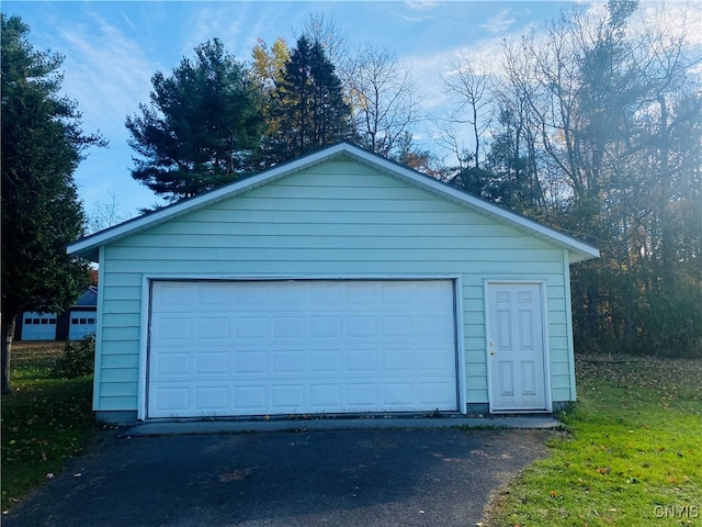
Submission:
POLYGON ((581 348, 700 355, 702 54, 658 9, 576 7, 506 43, 485 162, 453 181, 600 247, 574 268, 581 348))

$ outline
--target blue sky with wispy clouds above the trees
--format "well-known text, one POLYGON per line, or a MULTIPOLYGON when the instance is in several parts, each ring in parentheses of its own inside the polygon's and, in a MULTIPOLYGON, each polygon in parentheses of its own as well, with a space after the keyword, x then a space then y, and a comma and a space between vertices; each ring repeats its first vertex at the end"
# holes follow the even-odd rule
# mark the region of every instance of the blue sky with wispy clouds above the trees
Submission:
MULTIPOLYGON (((78 101, 86 132, 100 131, 109 148, 93 148, 76 172, 88 213, 114 195, 123 215, 158 203, 129 176, 126 115, 147 102, 150 78, 169 74, 199 43, 219 37, 238 59, 249 60, 257 38, 282 36, 294 45, 309 13, 324 13, 346 30, 351 49, 366 42, 395 51, 411 68, 423 110, 450 108, 440 75, 462 54, 497 56, 503 38, 557 18, 570 2, 557 1, 217 1, 26 2, 3 1, 5 14, 30 25, 37 49, 65 55, 64 91, 78 101)), ((428 138, 427 130, 415 131, 428 138)))

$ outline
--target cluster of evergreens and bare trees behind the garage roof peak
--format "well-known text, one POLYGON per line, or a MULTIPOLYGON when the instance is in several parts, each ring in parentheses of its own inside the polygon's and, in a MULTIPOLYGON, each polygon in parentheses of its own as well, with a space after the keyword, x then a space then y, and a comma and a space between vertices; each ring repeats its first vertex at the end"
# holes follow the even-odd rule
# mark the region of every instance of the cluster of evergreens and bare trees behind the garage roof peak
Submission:
POLYGON ((259 41, 246 64, 214 38, 151 78, 148 103, 126 117, 132 177, 168 201, 340 141, 401 160, 418 102, 396 54, 371 44, 350 58, 333 19, 309 16, 294 46, 259 41))

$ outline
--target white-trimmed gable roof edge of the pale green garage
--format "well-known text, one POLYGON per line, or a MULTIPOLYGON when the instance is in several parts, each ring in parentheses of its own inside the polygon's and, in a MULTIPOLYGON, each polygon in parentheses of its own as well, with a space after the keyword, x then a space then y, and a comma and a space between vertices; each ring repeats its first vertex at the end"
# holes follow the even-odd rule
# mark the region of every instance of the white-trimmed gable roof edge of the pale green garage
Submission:
POLYGON ((68 245, 67 251, 68 254, 80 256, 81 258, 98 261, 99 248, 101 246, 115 243, 127 236, 139 234, 179 216, 183 216, 217 202, 228 200, 235 195, 248 192, 249 190, 262 187, 272 181, 286 178, 287 176, 301 172, 316 165, 340 158, 347 158, 361 165, 365 165, 376 171, 383 172, 394 179, 419 188, 426 192, 430 192, 474 213, 508 225, 529 236, 541 238, 552 245, 567 249, 569 253, 570 264, 589 260, 600 256, 597 248, 586 244, 585 242, 562 234, 553 228, 546 227, 545 225, 501 209, 471 194, 466 194, 465 192, 442 183, 437 179, 349 143, 339 143, 328 146, 298 159, 276 165, 273 168, 249 178, 234 181, 210 192, 205 192, 186 200, 181 200, 172 205, 159 209, 158 211, 135 217, 104 231, 100 231, 91 236, 80 238, 68 245))

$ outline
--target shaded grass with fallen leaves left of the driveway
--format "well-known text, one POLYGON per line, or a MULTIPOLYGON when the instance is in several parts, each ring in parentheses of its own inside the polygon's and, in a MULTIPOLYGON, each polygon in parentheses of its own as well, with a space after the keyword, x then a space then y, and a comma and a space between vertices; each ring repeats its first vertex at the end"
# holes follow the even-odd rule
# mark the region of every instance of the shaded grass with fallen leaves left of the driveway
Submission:
POLYGON ((58 472, 99 430, 92 375, 61 379, 64 343, 12 345, 13 393, 2 395, 2 511, 58 472))

